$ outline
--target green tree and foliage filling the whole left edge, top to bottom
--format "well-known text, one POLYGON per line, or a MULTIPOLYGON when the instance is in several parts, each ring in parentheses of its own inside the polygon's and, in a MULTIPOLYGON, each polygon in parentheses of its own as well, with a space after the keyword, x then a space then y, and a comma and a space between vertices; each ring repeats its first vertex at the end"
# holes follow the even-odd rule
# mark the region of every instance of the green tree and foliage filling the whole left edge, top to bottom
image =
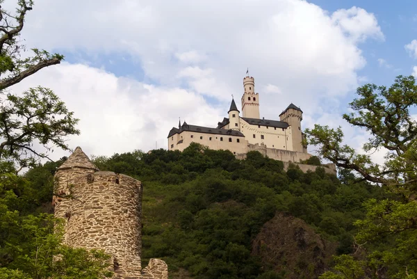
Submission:
POLYGON ((78 119, 50 89, 38 86, 21 95, 10 93, 11 86, 63 60, 60 54, 39 49, 21 58, 25 49, 19 35, 32 6, 32 0, 17 0, 15 14, 0 7, 0 278, 104 278, 111 276, 108 255, 65 246, 60 220, 34 214, 34 207, 52 193, 45 189, 52 184, 42 184, 40 176, 51 173, 29 171, 33 181, 17 175, 38 159, 49 159, 34 144, 47 152, 54 146, 67 150, 65 138, 79 134, 78 119))

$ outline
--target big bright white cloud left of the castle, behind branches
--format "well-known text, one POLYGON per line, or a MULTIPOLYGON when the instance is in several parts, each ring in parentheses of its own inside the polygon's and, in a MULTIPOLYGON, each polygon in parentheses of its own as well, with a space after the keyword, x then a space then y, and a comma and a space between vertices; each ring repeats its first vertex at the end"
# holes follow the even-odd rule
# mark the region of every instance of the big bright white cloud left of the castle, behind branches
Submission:
MULTIPOLYGON (((213 126, 221 115, 192 91, 117 78, 87 65, 49 67, 13 90, 20 92, 38 84, 54 90, 80 118, 81 136, 70 137, 69 144, 71 148, 80 145, 87 154, 146 152, 154 149, 156 142, 158 148, 167 148, 168 131, 178 125, 179 117, 213 126)), ((64 153, 53 155, 58 159, 64 153)))

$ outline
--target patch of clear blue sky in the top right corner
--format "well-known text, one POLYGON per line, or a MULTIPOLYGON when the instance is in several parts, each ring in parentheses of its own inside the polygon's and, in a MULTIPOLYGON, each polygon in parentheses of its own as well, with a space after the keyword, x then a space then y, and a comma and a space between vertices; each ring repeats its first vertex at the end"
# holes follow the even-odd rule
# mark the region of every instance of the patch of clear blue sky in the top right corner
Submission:
POLYGON ((384 33, 383 42, 368 41, 361 45, 367 65, 359 73, 369 78, 370 83, 389 86, 398 75, 409 75, 415 61, 404 50, 404 45, 417 38, 417 1, 376 1, 376 0, 313 0, 330 13, 341 8, 361 7, 375 14, 384 33), (380 65, 384 59, 391 67, 380 65))

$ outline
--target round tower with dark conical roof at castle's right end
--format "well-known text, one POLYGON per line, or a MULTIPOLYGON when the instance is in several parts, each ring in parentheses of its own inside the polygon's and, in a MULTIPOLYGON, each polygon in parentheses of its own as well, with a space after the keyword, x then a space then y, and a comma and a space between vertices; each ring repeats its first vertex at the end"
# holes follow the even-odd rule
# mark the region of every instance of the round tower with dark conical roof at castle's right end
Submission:
POLYGON ((291 103, 285 111, 279 115, 279 120, 287 122, 291 126, 291 139, 293 141, 293 151, 306 153, 307 150, 302 145, 302 110, 291 103))

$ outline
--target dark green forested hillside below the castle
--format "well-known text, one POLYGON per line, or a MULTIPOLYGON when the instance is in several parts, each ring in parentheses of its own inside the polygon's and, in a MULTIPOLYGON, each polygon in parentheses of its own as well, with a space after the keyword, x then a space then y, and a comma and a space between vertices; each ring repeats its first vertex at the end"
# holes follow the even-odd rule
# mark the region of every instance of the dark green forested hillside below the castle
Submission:
POLYGON ((332 264, 329 250, 352 252, 352 223, 364 217, 363 201, 382 195, 379 187, 352 183, 347 172, 340 180, 322 168, 285 172, 259 152, 238 160, 197 144, 94 162, 143 182, 142 258, 165 260, 171 278, 317 278, 332 264), (320 255, 314 250, 309 258, 308 241, 323 249, 320 255))

